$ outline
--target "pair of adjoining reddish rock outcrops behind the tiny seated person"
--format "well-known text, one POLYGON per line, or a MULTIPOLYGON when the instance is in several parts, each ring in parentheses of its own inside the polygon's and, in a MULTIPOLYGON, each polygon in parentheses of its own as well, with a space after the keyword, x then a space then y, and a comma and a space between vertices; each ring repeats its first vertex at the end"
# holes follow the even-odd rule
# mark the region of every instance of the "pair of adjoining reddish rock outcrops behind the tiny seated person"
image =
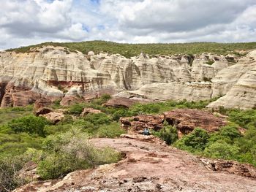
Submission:
POLYGON ((225 118, 217 118, 211 112, 187 109, 172 110, 164 112, 163 115, 138 115, 120 118, 122 128, 137 133, 143 131, 144 128, 158 131, 163 128, 164 121, 171 126, 176 126, 180 138, 197 127, 213 132, 227 124, 225 118))

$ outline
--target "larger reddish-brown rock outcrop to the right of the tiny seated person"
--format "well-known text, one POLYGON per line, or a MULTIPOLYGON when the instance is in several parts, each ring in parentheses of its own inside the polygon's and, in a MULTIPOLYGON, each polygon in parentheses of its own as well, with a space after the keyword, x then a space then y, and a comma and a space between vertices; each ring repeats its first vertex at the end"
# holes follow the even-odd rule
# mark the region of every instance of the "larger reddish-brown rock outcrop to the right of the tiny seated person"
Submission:
POLYGON ((178 128, 179 136, 189 134, 197 127, 213 132, 226 125, 223 118, 217 118, 211 112, 202 110, 179 109, 164 112, 164 115, 169 125, 178 128))

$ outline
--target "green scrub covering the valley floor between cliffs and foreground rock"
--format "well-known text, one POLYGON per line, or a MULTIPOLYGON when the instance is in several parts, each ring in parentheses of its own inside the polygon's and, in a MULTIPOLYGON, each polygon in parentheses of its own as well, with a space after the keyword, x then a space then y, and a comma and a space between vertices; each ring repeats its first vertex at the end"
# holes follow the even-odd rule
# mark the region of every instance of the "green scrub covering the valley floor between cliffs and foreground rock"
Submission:
MULTIPOLYGON (((0 109, 0 191, 11 191, 28 180, 19 177, 19 170, 28 161, 38 164, 37 174, 44 179, 63 177, 76 169, 88 169, 110 164, 121 156, 110 148, 91 145, 92 137, 118 137, 126 133, 119 118, 140 114, 159 114, 176 108, 203 109, 210 101, 166 101, 154 104, 134 104, 129 109, 104 107, 110 96, 104 95, 89 103, 66 107, 64 120, 57 124, 33 115, 31 106, 0 109), (81 116, 84 107, 100 110, 81 116)), ((214 100, 214 99, 213 99, 214 100)), ((211 101, 213 101, 211 100, 211 101)), ((60 108, 59 102, 52 106, 60 108)), ((190 153, 211 158, 224 158, 256 166, 256 110, 227 110, 230 124, 208 134, 201 128, 178 140, 175 126, 164 123, 160 131, 151 134, 190 153), (238 128, 246 128, 241 134, 238 128)))

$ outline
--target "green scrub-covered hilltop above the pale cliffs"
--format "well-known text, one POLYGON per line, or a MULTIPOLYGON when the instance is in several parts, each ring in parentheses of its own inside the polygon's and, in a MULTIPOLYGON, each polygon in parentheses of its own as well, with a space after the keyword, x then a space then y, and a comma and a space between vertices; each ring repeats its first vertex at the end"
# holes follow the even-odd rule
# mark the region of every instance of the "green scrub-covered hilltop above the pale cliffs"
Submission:
POLYGON ((200 54, 214 53, 227 55, 234 53, 242 55, 241 50, 256 49, 256 42, 242 43, 216 43, 216 42, 191 42, 191 43, 168 43, 168 44, 126 44, 105 41, 89 41, 89 42, 45 42, 38 45, 27 47, 19 47, 7 51, 15 51, 17 53, 29 52, 31 47, 42 47, 44 45, 62 46, 70 50, 78 50, 82 53, 94 51, 94 53, 119 53, 129 58, 140 53, 148 53, 150 55, 173 55, 173 54, 200 54))

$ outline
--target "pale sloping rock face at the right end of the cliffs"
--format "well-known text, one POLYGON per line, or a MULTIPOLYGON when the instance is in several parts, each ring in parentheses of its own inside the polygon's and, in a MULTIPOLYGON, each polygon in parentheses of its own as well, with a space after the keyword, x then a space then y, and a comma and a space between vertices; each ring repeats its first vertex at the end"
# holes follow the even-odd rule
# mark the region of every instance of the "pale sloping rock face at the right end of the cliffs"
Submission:
POLYGON ((250 109, 256 106, 256 50, 227 67, 212 80, 213 96, 222 96, 208 107, 250 109))

